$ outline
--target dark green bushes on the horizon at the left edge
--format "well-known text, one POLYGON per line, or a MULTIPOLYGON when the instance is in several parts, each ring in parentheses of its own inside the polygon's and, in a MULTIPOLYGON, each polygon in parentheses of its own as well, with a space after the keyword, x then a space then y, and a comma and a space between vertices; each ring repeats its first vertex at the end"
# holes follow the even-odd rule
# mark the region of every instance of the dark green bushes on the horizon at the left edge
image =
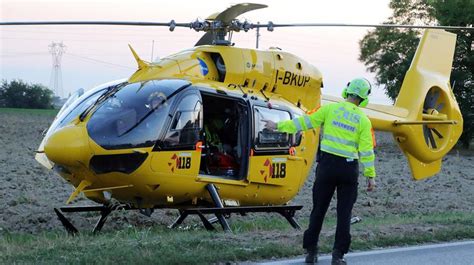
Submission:
POLYGON ((40 84, 28 84, 22 80, 7 82, 0 87, 0 107, 26 109, 52 109, 53 91, 40 84))

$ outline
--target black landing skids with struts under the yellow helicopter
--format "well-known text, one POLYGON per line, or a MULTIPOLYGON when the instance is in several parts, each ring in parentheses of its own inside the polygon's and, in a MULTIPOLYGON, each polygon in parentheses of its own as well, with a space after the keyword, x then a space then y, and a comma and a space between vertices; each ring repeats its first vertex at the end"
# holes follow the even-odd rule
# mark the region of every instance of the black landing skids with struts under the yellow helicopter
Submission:
MULTIPOLYGON (((288 221, 288 223, 290 223, 290 225, 293 228, 298 229, 298 230, 301 229, 300 225, 294 218, 296 211, 301 210, 301 208, 303 208, 303 206, 301 205, 224 207, 222 204, 222 200, 219 197, 219 193, 217 192, 216 187, 213 184, 208 184, 206 186, 206 189, 209 192, 209 195, 211 196, 215 207, 178 208, 180 215, 178 219, 176 219, 176 221, 174 221, 174 223, 169 226, 169 228, 178 227, 180 224, 183 223, 183 221, 189 215, 195 214, 199 216, 199 218, 201 219, 201 222, 203 223, 204 227, 207 230, 215 230, 215 227, 212 224, 218 222, 222 226, 222 229, 225 232, 231 232, 230 226, 227 223, 226 218, 230 218, 230 215, 232 213, 245 216, 247 213, 266 212, 266 213, 279 213, 281 216, 285 217, 285 219, 288 221), (208 220, 204 216, 205 214, 213 214, 215 215, 215 217, 208 220)), ((164 209, 164 208, 169 208, 169 207, 155 207, 153 209, 164 209)), ((65 206, 61 208, 54 208, 54 212, 58 216, 59 221, 61 221, 61 224, 64 226, 66 231, 71 235, 75 235, 79 232, 79 230, 77 230, 77 228, 74 227, 74 225, 64 216, 63 213, 100 212, 101 216, 99 220, 97 221, 96 225, 94 226, 94 229, 92 230, 93 233, 98 233, 102 230, 102 227, 104 226, 104 223, 107 220, 107 217, 109 216, 109 214, 113 212, 114 210, 118 210, 118 209, 143 211, 143 209, 132 207, 127 204, 115 204, 115 205, 103 205, 103 206, 65 206)), ((150 209, 147 209, 147 210, 150 210, 150 209)))

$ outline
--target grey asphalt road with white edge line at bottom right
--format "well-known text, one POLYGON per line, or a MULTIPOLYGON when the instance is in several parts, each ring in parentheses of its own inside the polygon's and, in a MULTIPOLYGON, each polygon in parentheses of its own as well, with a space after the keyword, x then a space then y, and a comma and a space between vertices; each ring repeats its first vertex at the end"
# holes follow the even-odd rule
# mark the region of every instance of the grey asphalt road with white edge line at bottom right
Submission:
MULTIPOLYGON (((474 265, 474 241, 355 252, 347 254, 346 260, 350 265, 474 265)), ((304 264, 304 258, 276 260, 260 264, 304 264)), ((317 264, 331 264, 331 256, 320 256, 317 264)))

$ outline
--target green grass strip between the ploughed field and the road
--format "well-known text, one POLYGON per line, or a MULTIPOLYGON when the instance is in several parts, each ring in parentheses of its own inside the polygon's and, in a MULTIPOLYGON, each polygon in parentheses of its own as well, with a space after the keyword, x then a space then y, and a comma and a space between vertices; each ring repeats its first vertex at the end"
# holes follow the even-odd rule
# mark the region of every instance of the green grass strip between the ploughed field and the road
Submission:
MULTIPOLYGON (((306 226, 306 220, 301 220, 306 226)), ((320 242, 330 252, 335 220, 326 220, 320 242)), ((99 235, 69 236, 60 230, 40 234, 0 233, 2 264, 208 264, 256 261, 302 254, 302 231, 282 219, 237 221, 233 233, 164 226, 129 228, 99 235)), ((474 238, 474 213, 397 215, 353 225, 352 251, 474 238), (413 226, 410 233, 394 231, 413 226), (421 228, 420 228, 421 227, 421 228)))

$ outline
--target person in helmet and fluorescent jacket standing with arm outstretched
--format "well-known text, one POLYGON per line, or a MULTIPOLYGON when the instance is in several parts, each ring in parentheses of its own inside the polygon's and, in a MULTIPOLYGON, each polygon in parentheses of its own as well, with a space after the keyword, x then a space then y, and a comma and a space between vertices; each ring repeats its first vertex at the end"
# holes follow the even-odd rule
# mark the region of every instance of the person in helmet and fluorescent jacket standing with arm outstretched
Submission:
POLYGON ((310 115, 274 123, 266 127, 280 132, 296 133, 323 125, 320 158, 313 186, 313 210, 309 227, 304 233, 303 248, 306 262, 317 262, 317 245, 324 216, 337 190, 337 228, 332 253, 332 264, 346 264, 344 254, 351 243, 350 220, 357 198, 359 162, 364 167, 368 190, 375 187, 374 140, 372 125, 360 107, 368 104, 370 83, 357 78, 343 91, 346 101, 322 106, 310 115))

